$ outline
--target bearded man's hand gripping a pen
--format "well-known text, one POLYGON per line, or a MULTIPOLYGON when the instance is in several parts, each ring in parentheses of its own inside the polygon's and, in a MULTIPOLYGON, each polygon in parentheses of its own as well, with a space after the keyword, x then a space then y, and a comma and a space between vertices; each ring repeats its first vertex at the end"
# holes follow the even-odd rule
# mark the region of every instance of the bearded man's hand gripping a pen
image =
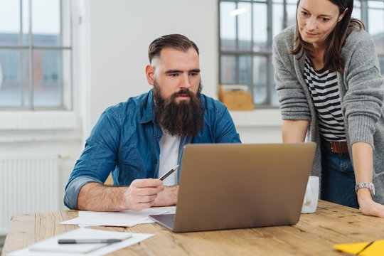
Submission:
POLYGON ((129 210, 142 210, 153 206, 161 191, 164 191, 163 181, 154 178, 137 179, 124 192, 124 198, 129 210))

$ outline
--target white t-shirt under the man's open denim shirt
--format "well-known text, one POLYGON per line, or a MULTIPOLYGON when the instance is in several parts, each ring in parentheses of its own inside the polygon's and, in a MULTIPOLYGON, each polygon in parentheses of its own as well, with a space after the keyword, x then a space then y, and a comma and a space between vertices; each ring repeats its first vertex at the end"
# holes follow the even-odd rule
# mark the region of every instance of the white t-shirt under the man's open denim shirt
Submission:
MULTIPOLYGON (((163 136, 160 139, 159 177, 177 165, 179 146, 179 136, 171 136, 167 132, 163 132, 163 136)), ((174 186, 178 184, 177 173, 178 171, 174 171, 173 174, 164 179, 164 186, 174 186)))

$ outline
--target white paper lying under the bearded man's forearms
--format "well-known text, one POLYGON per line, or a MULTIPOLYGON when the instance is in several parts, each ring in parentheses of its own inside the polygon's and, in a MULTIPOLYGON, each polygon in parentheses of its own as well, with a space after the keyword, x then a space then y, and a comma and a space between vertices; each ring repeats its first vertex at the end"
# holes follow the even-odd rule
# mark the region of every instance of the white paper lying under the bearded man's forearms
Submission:
POLYGON ((121 212, 94 212, 79 210, 79 217, 61 222, 63 225, 80 226, 119 226, 132 227, 137 224, 154 223, 149 219, 149 215, 175 213, 176 206, 153 207, 140 211, 124 210, 121 212))

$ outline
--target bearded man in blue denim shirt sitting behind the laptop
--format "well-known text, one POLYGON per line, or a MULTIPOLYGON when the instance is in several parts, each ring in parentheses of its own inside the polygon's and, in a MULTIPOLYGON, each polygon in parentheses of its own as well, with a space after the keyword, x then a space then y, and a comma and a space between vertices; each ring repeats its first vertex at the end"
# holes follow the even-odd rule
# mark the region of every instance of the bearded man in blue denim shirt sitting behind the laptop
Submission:
POLYGON ((190 143, 239 143, 227 108, 201 94, 198 47, 185 36, 156 38, 146 79, 153 90, 102 113, 65 187, 70 209, 142 210, 177 203, 179 172, 190 143), (104 182, 112 172, 114 186, 104 182))

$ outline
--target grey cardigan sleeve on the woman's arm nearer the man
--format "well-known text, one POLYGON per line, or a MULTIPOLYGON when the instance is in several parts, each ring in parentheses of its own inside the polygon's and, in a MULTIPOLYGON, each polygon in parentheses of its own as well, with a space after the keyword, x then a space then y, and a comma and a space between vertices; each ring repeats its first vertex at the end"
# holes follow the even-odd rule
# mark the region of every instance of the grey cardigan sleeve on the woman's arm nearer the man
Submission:
POLYGON ((282 119, 310 120, 311 112, 303 85, 300 84, 297 73, 298 63, 292 55, 294 42, 292 27, 282 31, 274 38, 272 56, 274 65, 274 81, 279 97, 282 119))

